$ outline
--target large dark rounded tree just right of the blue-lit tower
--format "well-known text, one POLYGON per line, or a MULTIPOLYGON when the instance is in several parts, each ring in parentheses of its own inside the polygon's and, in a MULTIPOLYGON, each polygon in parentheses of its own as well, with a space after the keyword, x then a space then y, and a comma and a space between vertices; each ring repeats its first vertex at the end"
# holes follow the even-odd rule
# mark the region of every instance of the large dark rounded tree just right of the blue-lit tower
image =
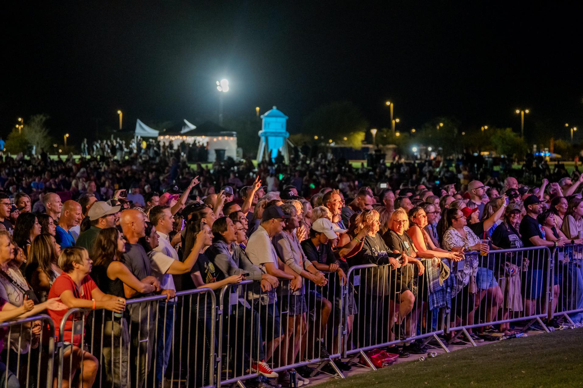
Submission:
POLYGON ((368 122, 356 105, 349 101, 336 101, 312 112, 304 121, 303 132, 358 149, 367 127, 368 122))

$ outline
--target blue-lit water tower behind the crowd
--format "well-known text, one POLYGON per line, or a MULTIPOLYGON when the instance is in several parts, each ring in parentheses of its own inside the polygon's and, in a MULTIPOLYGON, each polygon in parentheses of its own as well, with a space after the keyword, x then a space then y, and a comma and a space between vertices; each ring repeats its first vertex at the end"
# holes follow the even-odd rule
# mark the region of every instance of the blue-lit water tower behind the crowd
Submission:
POLYGON ((286 164, 290 158, 287 151, 287 137, 290 134, 286 129, 287 116, 278 108, 265 112, 261 115, 262 124, 259 131, 259 150, 257 151, 257 163, 263 160, 275 161, 278 152, 281 152, 286 164))

